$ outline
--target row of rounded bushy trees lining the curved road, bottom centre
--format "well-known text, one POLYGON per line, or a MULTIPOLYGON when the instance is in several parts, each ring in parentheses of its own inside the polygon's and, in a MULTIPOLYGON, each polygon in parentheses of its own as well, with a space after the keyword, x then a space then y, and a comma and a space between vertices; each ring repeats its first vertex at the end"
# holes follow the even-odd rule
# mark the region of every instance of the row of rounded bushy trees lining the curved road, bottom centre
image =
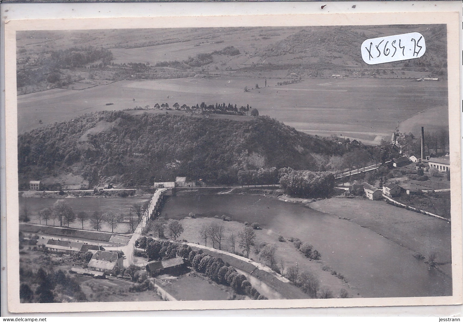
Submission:
POLYGON ((218 284, 232 287, 238 294, 247 295, 255 300, 266 300, 267 297, 261 295, 243 274, 239 274, 236 269, 218 257, 210 256, 206 253, 191 251, 189 256, 193 268, 205 274, 218 284))

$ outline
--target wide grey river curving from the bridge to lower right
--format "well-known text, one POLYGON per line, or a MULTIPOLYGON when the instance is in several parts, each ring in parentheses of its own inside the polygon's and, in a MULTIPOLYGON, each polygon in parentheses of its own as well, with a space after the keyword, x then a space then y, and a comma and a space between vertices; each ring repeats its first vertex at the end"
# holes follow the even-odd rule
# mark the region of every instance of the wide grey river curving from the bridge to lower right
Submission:
POLYGON ((323 261, 342 273, 351 289, 362 297, 429 297, 452 293, 451 278, 429 269, 405 247, 354 222, 300 203, 264 196, 172 196, 162 210, 163 215, 174 219, 188 216, 190 212, 258 222, 261 227, 284 237, 308 241, 320 251, 323 261))

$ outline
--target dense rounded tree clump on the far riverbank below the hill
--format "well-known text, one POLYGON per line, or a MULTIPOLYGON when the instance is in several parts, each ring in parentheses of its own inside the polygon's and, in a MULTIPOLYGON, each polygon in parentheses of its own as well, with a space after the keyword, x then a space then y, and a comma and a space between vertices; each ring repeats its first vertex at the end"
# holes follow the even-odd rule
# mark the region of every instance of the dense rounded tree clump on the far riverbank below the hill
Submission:
POLYGON ((280 187, 291 196, 302 198, 326 197, 334 188, 334 175, 330 172, 280 169, 280 187))

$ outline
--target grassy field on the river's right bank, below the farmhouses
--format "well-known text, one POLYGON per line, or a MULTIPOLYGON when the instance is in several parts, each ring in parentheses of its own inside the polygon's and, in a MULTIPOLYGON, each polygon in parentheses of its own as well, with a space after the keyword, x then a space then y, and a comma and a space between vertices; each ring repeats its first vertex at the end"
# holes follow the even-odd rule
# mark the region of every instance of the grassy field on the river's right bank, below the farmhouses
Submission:
POLYGON ((436 254, 439 268, 451 276, 450 223, 435 217, 398 208, 383 201, 363 198, 331 198, 310 207, 367 227, 426 258, 436 254))

